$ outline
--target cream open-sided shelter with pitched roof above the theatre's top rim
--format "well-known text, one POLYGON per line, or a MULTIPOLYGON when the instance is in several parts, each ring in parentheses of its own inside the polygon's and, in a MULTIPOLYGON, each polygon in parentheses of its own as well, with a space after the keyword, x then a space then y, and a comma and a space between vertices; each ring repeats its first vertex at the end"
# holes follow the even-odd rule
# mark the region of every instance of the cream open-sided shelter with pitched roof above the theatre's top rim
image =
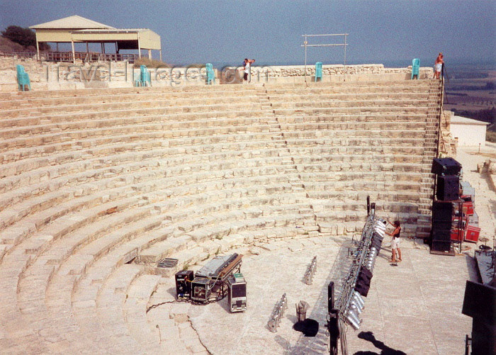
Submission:
POLYGON ((148 28, 114 28, 103 23, 89 20, 81 16, 69 16, 59 20, 41 23, 30 26, 36 31, 36 50, 38 59, 40 49, 38 43, 71 43, 72 60, 75 59, 74 43, 101 43, 102 52, 105 52, 104 43, 115 43, 115 52, 119 50, 138 50, 141 57, 141 50, 148 50, 148 56, 152 57, 152 50, 159 50, 160 60, 162 60, 162 45, 160 36, 148 28))

